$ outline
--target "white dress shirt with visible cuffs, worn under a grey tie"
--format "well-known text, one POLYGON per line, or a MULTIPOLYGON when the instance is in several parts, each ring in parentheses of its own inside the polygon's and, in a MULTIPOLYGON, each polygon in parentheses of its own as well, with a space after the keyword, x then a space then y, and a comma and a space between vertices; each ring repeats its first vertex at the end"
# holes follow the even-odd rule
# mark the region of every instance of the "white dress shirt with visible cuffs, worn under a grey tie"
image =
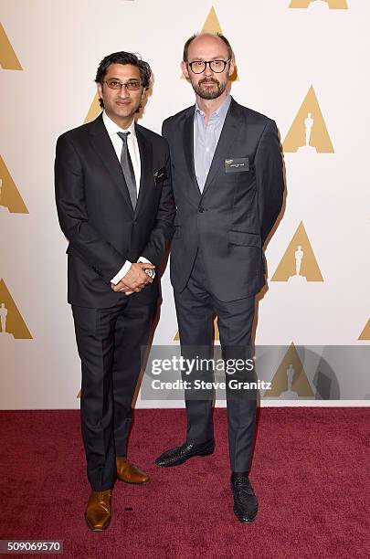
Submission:
MULTIPOLYGON (((105 128, 107 129, 109 137, 111 138, 111 143, 113 144, 114 151, 120 163, 121 163, 121 153, 122 153, 122 140, 118 135, 118 132, 130 132, 127 138, 127 147, 132 160, 132 167, 133 167, 133 173, 135 175, 137 195, 139 197, 142 168, 141 168, 139 144, 137 142, 136 132, 135 132, 135 122, 132 121, 130 127, 127 128, 127 130, 124 130, 118 124, 113 122, 105 111, 103 111, 102 113, 102 120, 105 124, 105 128)), ((140 257, 138 262, 147 262, 148 264, 150 264, 149 260, 143 257, 140 257)), ((117 283, 119 283, 122 280, 122 278, 127 274, 129 269, 131 268, 131 265, 132 262, 130 262, 130 260, 126 260, 122 266, 122 269, 120 269, 117 272, 117 274, 114 276, 114 278, 111 279, 111 283, 117 285, 117 283)))

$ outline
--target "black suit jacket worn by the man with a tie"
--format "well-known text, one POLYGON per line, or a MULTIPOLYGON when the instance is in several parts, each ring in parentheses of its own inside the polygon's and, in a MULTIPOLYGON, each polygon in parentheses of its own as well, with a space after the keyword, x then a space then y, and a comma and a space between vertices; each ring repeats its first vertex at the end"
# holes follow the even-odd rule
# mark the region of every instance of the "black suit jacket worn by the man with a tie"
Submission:
MULTIPOLYGON (((58 138, 55 185, 60 227, 69 240, 69 303, 108 308, 126 296, 111 290, 125 260, 155 266, 173 235, 174 199, 167 142, 135 124, 141 182, 135 211, 101 115, 58 138), (156 174, 157 171, 161 171, 156 174), (156 176, 154 176, 156 174, 156 176)), ((149 303, 158 280, 132 297, 149 303)))

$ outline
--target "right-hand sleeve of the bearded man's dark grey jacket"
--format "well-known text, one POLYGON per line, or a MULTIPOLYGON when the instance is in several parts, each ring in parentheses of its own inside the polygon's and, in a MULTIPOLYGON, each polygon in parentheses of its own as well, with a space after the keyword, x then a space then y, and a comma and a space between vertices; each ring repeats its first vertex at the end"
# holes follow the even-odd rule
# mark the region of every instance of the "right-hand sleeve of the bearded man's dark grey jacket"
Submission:
POLYGON ((260 235, 263 245, 280 214, 284 193, 280 140, 274 121, 269 121, 262 132, 255 165, 259 192, 260 235))

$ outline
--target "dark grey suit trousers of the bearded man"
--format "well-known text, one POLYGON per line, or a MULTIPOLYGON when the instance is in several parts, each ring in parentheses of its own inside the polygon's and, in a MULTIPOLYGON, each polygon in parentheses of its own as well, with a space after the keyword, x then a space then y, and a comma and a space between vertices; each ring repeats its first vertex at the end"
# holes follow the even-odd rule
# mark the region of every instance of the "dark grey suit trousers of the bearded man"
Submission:
MULTIPOLYGON (((255 297, 229 302, 217 300, 208 288, 200 249, 185 290, 175 291, 174 301, 182 354, 185 357, 195 358, 196 355, 205 359, 210 357, 213 343, 212 316, 216 313, 224 361, 232 364, 235 359, 250 358, 255 297)), ((211 374, 204 370, 196 372, 199 379, 206 381, 211 380, 211 374)), ((193 372, 191 376, 194 380, 193 372)), ((226 374, 226 377, 226 381, 232 377, 234 382, 255 381, 254 371, 248 372, 245 369, 232 376, 226 374)), ((186 380, 190 377, 183 374, 183 378, 186 380)), ((256 423, 256 391, 230 389, 227 382, 226 392, 231 469, 238 472, 248 471, 256 423)), ((200 398, 194 390, 185 391, 186 442, 199 444, 214 437, 212 402, 213 391, 203 391, 200 398)))

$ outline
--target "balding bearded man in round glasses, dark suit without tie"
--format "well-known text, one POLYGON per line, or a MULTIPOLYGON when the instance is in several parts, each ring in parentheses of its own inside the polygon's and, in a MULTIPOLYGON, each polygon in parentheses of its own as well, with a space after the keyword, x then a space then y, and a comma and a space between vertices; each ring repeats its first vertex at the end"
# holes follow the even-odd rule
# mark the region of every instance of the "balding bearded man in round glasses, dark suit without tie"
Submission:
MULTIPOLYGON (((248 472, 256 391, 246 387, 253 388, 255 380, 250 346, 255 296, 265 282, 263 245, 282 206, 280 141, 274 121, 229 95, 227 79, 235 66, 226 37, 190 37, 182 69, 196 92, 196 106, 163 125, 177 207, 171 280, 180 342, 186 357, 209 356, 216 313, 225 363, 246 364, 227 375, 228 442, 234 512, 240 522, 253 522, 258 501, 248 472), (235 379, 242 388, 235 389, 235 379)), ((196 374, 194 380, 209 380, 204 370, 196 374)), ((196 390, 185 391, 185 443, 164 452, 158 466, 213 453, 212 396, 212 391, 200 398, 196 390)))

